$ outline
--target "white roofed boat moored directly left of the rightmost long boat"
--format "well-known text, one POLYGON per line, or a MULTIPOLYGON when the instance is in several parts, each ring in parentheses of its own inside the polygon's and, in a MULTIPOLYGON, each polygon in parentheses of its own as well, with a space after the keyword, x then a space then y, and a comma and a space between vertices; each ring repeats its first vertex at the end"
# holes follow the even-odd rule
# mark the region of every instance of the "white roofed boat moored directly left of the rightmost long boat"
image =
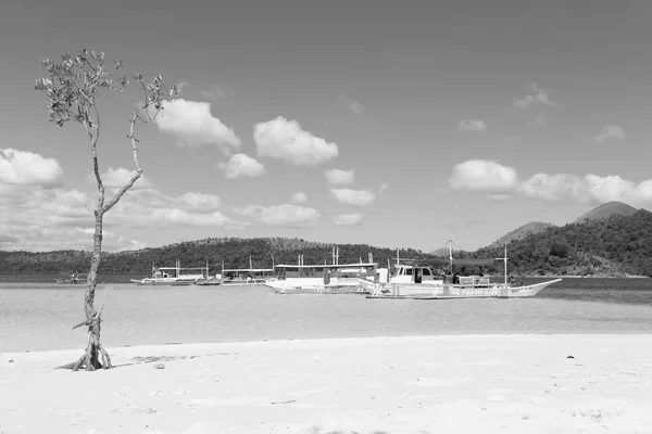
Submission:
MULTIPOLYGON (((369 259, 371 255, 369 255, 369 259)), ((339 251, 334 250, 333 264, 305 265, 299 255, 297 265, 277 265, 277 279, 266 283, 277 294, 351 294, 366 293, 361 280, 373 282, 377 264, 338 264, 339 251)))

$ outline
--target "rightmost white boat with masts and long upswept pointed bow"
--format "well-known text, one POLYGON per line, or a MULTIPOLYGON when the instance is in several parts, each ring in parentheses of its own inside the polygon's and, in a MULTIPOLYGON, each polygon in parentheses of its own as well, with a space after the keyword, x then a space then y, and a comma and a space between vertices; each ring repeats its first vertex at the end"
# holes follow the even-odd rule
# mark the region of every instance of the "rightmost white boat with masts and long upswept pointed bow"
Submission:
POLYGON ((408 260, 400 264, 397 258, 396 273, 387 282, 369 282, 359 279, 369 295, 367 298, 516 298, 534 297, 547 286, 562 279, 549 280, 528 285, 512 286, 507 281, 507 250, 502 258, 453 259, 452 246, 449 259, 408 260), (460 266, 492 266, 496 260, 504 261, 504 283, 490 282, 487 277, 460 276, 459 283, 447 281, 435 272, 436 266, 453 264, 460 266))

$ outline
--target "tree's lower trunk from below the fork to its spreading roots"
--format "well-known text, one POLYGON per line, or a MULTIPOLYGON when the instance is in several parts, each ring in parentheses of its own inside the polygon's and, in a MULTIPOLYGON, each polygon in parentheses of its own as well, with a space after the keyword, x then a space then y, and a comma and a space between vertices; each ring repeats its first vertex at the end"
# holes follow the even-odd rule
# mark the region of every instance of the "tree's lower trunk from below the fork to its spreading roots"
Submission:
POLYGON ((100 261, 102 258, 102 218, 104 215, 103 209, 100 206, 98 207, 99 209, 96 209, 95 212, 96 229, 92 237, 92 258, 90 260, 90 271, 88 272, 86 292, 84 294, 84 311, 86 314, 86 321, 76 326, 88 327, 88 346, 86 347, 84 355, 77 361, 61 367, 64 369, 72 369, 73 371, 76 371, 82 367, 85 367, 87 371, 93 371, 99 368, 110 369, 113 367, 111 365, 111 358, 109 357, 109 354, 100 342, 102 309, 100 309, 100 311, 96 311, 95 309, 95 291, 97 286, 98 269, 100 268, 100 261))

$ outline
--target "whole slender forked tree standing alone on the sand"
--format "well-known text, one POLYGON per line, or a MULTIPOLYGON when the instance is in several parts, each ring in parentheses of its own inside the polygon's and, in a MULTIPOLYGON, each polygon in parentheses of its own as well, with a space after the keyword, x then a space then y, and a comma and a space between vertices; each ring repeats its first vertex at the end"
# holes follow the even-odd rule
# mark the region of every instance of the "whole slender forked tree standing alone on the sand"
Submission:
POLYGON ((176 87, 167 89, 161 76, 154 77, 151 82, 146 84, 142 75, 134 75, 137 90, 143 97, 142 102, 138 103, 129 119, 127 135, 134 152, 136 173, 113 197, 105 201, 105 190, 98 163, 100 112, 97 102, 100 92, 122 92, 129 84, 126 76, 117 77, 117 73, 123 67, 123 62, 116 59, 112 65, 105 65, 103 52, 82 50, 76 56, 72 56, 70 53, 63 54, 59 63, 45 60, 42 61, 42 66, 48 72, 48 77, 36 80, 35 89, 43 92, 48 98, 48 111, 51 123, 57 123, 57 125, 62 127, 66 122, 73 120, 82 124, 86 129, 92 155, 95 179, 99 192, 97 206, 93 212, 95 234, 92 237, 92 257, 84 294, 86 320, 73 327, 73 329, 83 326, 88 328, 88 346, 77 361, 65 365, 62 368, 74 371, 82 367, 85 367, 87 371, 98 368, 109 369, 112 367, 111 358, 100 343, 100 323, 102 321, 103 306, 100 310, 96 310, 95 308, 98 269, 102 258, 103 217, 134 187, 134 183, 142 175, 142 169, 138 162, 138 139, 135 136, 136 125, 138 123, 147 124, 152 122, 159 112, 163 110, 163 103, 175 100, 178 97, 178 91, 176 87))

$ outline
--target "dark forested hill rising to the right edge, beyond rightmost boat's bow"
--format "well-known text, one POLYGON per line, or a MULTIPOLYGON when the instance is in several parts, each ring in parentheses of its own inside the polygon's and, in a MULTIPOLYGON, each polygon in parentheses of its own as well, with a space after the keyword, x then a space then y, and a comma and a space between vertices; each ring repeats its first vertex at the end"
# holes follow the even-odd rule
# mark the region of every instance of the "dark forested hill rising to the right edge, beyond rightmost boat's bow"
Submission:
MULTIPOLYGON (((476 257, 500 257, 501 247, 480 248, 476 257)), ((652 277, 652 213, 584 219, 514 240, 509 267, 518 275, 640 275, 652 277)))

